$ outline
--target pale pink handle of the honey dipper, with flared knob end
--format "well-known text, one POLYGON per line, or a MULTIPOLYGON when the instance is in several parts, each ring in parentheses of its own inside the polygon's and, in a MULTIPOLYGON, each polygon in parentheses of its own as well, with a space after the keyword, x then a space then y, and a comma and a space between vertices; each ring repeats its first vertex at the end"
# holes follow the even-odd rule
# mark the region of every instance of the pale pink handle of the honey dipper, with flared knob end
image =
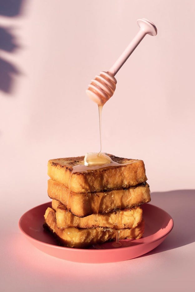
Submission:
POLYGON ((142 19, 138 19, 137 23, 138 23, 138 26, 140 27, 139 32, 130 42, 128 47, 123 51, 123 53, 118 58, 118 60, 108 70, 108 73, 112 74, 113 76, 117 74, 118 70, 123 66, 123 64, 127 61, 128 57, 133 53, 135 48, 139 45, 139 43, 143 40, 143 38, 147 34, 151 36, 157 35, 157 28, 155 27, 153 22, 150 22, 146 20, 145 18, 142 18, 142 19))

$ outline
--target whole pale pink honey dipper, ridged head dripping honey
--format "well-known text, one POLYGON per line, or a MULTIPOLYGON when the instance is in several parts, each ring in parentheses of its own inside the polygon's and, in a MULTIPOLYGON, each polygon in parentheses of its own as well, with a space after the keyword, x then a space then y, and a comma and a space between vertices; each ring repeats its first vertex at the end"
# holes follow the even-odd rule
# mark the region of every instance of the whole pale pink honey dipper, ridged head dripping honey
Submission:
POLYGON ((137 20, 137 23, 140 27, 139 32, 130 42, 128 47, 123 51, 118 60, 107 72, 101 71, 99 75, 96 75, 95 79, 91 80, 91 83, 88 85, 86 93, 91 100, 98 104, 98 106, 103 106, 107 100, 113 96, 117 84, 117 80, 114 76, 127 61, 128 57, 133 53, 138 44, 147 34, 150 36, 157 35, 157 28, 153 22, 145 18, 141 18, 137 20))

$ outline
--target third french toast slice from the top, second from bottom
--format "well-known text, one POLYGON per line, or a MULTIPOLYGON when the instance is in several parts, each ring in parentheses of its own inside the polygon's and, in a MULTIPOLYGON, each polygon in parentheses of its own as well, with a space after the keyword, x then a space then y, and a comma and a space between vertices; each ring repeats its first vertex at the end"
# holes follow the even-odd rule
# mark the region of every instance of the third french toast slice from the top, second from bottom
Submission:
POLYGON ((58 228, 95 228, 106 227, 114 229, 135 228, 142 221, 142 208, 134 207, 106 214, 92 214, 77 217, 67 210, 60 202, 52 200, 52 208, 56 211, 58 228))

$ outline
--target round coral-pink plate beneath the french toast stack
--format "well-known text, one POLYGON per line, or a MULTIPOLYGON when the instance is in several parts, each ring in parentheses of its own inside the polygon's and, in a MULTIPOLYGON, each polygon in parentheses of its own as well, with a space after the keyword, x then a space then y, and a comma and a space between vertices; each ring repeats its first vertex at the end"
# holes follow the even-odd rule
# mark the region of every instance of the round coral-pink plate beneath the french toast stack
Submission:
POLYGON ((121 246, 118 248, 114 247, 112 242, 90 249, 62 247, 58 246, 53 236, 42 227, 43 215, 47 207, 51 207, 51 202, 34 207, 24 213, 19 220, 19 228, 39 250, 51 256, 74 262, 109 263, 142 256, 161 244, 173 228, 173 219, 167 212, 151 204, 144 204, 145 232, 142 238, 121 240, 121 246))

